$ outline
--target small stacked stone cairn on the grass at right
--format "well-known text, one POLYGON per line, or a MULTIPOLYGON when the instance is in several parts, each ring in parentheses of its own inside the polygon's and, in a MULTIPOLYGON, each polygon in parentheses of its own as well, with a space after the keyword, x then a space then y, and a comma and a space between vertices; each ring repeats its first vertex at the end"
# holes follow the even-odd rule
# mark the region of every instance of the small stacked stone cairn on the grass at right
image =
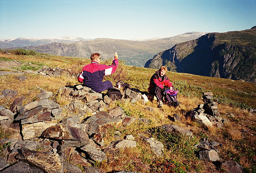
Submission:
POLYGON ((204 104, 199 104, 198 107, 187 113, 186 118, 191 118, 206 127, 213 125, 222 127, 224 123, 218 110, 218 103, 214 102, 212 99, 212 92, 203 93, 204 104))

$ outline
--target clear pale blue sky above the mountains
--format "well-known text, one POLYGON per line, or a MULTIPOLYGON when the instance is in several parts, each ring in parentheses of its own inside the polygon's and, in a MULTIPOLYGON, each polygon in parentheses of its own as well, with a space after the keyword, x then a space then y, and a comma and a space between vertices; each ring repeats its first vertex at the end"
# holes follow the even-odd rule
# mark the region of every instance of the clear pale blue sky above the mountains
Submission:
POLYGON ((153 38, 255 25, 255 0, 0 0, 0 39, 153 38))

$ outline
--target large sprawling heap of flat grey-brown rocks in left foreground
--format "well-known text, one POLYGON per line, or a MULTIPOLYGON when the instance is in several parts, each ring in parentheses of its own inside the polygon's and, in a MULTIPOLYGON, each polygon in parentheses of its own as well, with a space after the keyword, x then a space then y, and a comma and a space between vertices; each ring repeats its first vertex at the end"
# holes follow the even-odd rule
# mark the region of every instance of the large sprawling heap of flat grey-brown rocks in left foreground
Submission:
MULTIPOLYGON (((136 120, 149 122, 126 116, 120 106, 109 109, 112 100, 107 95, 95 93, 82 85, 64 87, 58 92, 61 96, 68 96, 71 103, 61 107, 50 99, 51 92, 41 89, 41 94, 36 96, 38 101, 22 105, 25 98, 16 97, 15 91, 2 92, 4 97, 16 99, 10 109, 0 106, 1 128, 12 134, 12 139, 0 141, 0 145, 6 146, 1 150, 0 170, 63 172, 65 168, 69 172, 82 172, 75 166, 81 165, 88 171, 100 172, 93 163, 107 160, 105 151, 136 147, 136 139, 131 135, 106 145, 103 136, 108 129, 112 126, 125 127, 136 120), (92 116, 85 119, 88 112, 92 116), (67 117, 67 114, 73 115, 67 117)), ((136 101, 143 99, 141 93, 133 91, 126 91, 123 97, 136 101)), ((152 149, 163 150, 161 142, 145 139, 157 143, 157 146, 152 145, 152 149)))

